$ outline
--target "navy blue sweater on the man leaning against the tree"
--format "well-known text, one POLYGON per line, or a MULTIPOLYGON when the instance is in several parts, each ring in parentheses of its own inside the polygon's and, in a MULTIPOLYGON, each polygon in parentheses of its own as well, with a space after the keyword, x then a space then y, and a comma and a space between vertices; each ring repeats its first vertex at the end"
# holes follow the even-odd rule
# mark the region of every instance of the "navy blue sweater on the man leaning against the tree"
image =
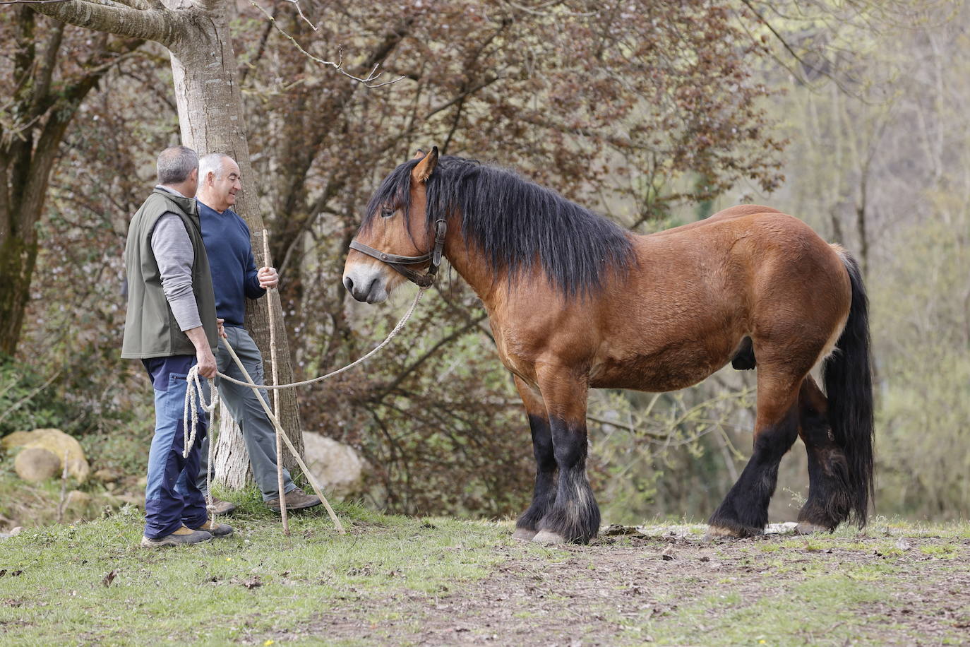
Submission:
POLYGON ((215 288, 215 315, 225 319, 226 326, 242 327, 245 297, 259 299, 266 294, 256 278, 249 228, 236 211, 219 213, 201 202, 199 220, 215 288))

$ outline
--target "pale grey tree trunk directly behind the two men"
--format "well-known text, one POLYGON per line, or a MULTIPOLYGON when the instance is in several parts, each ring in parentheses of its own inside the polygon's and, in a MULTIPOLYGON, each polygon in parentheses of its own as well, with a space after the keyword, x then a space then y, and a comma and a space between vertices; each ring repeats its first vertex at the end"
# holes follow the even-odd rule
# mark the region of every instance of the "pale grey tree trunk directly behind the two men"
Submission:
MULTIPOLYGON (((245 120, 242 114, 242 96, 236 80, 236 53, 229 36, 226 6, 218 4, 207 20, 193 22, 193 33, 179 38, 170 46, 172 71, 178 102, 178 123, 181 127, 182 144, 195 148, 200 155, 221 152, 230 155, 239 164, 242 174, 242 192, 237 198, 235 210, 239 212, 252 233, 253 253, 257 264, 262 265, 263 244, 259 238, 263 232, 263 218, 259 212, 259 186, 249 162, 249 146, 246 142, 245 120), (213 65, 213 61, 219 64, 213 65)), ((266 363, 265 374, 273 374, 270 362, 270 319, 266 299, 249 301, 246 307, 245 327, 259 346, 266 363)), ((282 334, 283 312, 278 300, 273 300, 275 320, 280 334, 276 336, 276 359, 280 382, 293 381, 293 367, 286 336, 282 334)), ((280 394, 280 423, 286 430, 297 451, 303 452, 303 429, 297 394, 287 389, 280 394)), ((234 442, 231 433, 220 435, 214 449, 215 465, 225 466, 216 470, 216 481, 226 487, 239 487, 238 474, 248 471, 248 456, 241 443, 234 442)), ((293 469, 296 461, 289 451, 283 449, 283 465, 293 469)))

